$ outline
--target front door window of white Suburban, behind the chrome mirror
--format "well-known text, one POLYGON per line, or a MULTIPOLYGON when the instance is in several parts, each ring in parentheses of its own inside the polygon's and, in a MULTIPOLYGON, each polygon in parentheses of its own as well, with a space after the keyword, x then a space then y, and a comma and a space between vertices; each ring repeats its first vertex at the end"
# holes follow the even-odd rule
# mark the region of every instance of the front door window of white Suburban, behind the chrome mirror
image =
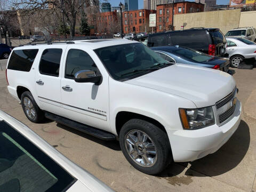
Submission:
POLYGON ((100 74, 90 55, 82 50, 70 49, 68 51, 65 78, 74 78, 77 71, 93 70, 96 75, 100 74))

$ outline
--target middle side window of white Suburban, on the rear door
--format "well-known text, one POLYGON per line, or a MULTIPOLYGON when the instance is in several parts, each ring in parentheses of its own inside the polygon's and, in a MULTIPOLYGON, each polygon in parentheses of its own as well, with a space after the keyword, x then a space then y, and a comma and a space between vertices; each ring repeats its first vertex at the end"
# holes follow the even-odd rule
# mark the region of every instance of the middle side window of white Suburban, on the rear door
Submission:
POLYGON ((46 49, 44 50, 39 64, 41 74, 50 76, 59 76, 60 59, 62 49, 46 49))

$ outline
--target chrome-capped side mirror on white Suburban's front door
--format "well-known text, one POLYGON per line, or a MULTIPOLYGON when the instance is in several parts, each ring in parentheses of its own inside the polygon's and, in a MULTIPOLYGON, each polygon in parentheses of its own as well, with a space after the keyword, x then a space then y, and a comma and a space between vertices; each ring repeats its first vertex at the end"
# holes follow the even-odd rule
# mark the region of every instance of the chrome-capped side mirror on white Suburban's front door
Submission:
POLYGON ((92 70, 80 70, 75 74, 75 82, 77 83, 95 83, 100 85, 102 82, 102 76, 96 76, 92 70))

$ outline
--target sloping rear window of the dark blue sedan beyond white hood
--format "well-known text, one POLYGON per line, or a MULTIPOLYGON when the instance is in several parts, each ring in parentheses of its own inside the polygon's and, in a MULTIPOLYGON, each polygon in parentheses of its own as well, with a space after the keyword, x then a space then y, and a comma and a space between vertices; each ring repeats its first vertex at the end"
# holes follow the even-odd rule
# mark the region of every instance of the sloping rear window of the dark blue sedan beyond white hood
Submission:
POLYGON ((173 49, 173 51, 171 51, 173 54, 193 62, 204 62, 213 58, 211 55, 196 51, 194 49, 179 46, 176 47, 177 49, 173 49))

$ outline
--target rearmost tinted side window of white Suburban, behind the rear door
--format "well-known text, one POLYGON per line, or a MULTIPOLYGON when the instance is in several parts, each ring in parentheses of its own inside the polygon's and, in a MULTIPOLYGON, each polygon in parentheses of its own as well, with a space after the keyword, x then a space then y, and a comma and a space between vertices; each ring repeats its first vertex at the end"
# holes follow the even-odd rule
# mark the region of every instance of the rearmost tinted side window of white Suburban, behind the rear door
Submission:
POLYGON ((12 52, 7 69, 30 71, 36 58, 38 49, 33 50, 14 50, 12 52))

